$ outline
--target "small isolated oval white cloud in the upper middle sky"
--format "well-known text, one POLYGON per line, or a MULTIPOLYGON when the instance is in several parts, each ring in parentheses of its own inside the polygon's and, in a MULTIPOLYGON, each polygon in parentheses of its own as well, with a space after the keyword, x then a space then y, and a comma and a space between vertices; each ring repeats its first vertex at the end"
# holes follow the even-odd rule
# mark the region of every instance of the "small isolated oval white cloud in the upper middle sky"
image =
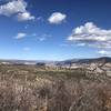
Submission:
POLYGON ((59 24, 63 22, 65 18, 67 18, 67 14, 63 14, 61 12, 54 12, 49 17, 48 21, 53 24, 59 24))

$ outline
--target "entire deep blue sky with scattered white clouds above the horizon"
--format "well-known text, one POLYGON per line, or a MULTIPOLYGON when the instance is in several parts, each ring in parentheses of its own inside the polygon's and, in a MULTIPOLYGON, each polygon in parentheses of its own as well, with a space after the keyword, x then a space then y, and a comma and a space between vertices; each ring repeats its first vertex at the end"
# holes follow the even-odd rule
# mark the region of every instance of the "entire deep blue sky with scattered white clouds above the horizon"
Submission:
POLYGON ((111 57, 111 0, 0 0, 0 59, 111 57))

